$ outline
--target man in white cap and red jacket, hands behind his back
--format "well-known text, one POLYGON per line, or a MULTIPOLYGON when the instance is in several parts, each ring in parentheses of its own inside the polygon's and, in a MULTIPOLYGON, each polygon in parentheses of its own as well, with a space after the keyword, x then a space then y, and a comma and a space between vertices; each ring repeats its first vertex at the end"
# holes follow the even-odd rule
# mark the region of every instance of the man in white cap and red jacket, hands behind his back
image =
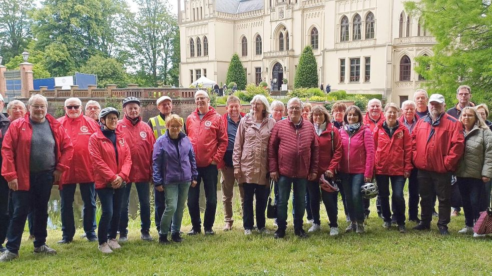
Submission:
POLYGON ((451 218, 451 174, 463 155, 464 137, 461 122, 444 112, 444 96, 432 94, 429 114, 417 121, 413 128, 413 164, 418 168, 421 221, 414 229, 430 228, 432 197, 439 200, 437 227, 442 235, 449 234, 451 218))

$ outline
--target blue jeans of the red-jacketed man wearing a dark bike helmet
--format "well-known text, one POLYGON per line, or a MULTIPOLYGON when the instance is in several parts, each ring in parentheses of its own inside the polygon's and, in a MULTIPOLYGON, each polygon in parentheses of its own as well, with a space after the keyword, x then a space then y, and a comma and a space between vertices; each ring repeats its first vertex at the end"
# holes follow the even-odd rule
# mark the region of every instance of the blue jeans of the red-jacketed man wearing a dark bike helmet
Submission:
MULTIPOLYGON (((140 203, 140 231, 148 232, 150 230, 150 188, 149 182, 135 182, 137 188, 138 200, 140 203)), ((130 191, 132 183, 127 183, 123 192, 123 201, 121 206, 120 236, 128 235, 128 205, 130 204, 130 191)))

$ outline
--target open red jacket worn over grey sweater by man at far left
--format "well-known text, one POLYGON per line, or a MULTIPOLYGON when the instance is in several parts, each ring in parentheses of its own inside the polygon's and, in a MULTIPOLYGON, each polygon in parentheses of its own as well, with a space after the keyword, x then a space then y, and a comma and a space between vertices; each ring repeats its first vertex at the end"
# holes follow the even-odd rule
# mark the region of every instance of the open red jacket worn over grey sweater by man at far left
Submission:
MULTIPOLYGON (((33 126, 29 121, 29 113, 24 118, 14 120, 9 126, 2 143, 2 175, 7 181, 17 178, 19 190, 30 189, 30 158, 33 126)), ((63 125, 50 114, 46 114, 55 138, 55 169, 62 172, 69 169, 74 154, 74 146, 63 125)), ((55 183, 59 184, 59 183, 55 183)))

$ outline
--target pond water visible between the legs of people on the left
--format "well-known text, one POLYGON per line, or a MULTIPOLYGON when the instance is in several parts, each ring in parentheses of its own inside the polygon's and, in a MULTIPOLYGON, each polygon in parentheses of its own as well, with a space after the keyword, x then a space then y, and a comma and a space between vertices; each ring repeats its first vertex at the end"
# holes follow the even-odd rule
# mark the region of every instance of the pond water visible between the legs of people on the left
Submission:
MULTIPOLYGON (((220 181, 220 172, 219 172, 219 181, 220 181)), ((205 192, 203 190, 203 184, 200 185, 200 211, 205 211, 205 192)), ((149 185, 149 192, 151 193, 151 221, 152 225, 154 225, 154 189, 149 185)), ((239 193, 238 187, 234 188, 234 197, 239 193)), ((234 202, 235 198, 233 198, 234 202)), ((99 208, 99 199, 97 199, 96 204, 99 208)), ((82 201, 82 197, 80 195, 79 185, 77 185, 77 189, 75 191, 75 199, 74 199, 74 217, 75 217, 75 225, 76 227, 82 227, 82 209, 84 203, 82 201)), ((60 191, 58 190, 58 186, 53 186, 51 190, 51 197, 48 203, 48 227, 51 229, 61 229, 62 228, 62 220, 60 215, 60 191)), ((185 205, 185 211, 188 207, 185 205)), ((220 183, 217 184, 217 211, 222 208, 222 191, 220 187, 220 183)), ((132 218, 137 218, 139 213, 139 201, 137 195, 137 189, 135 185, 132 185, 132 190, 130 192, 130 205, 128 207, 128 213, 132 218)))

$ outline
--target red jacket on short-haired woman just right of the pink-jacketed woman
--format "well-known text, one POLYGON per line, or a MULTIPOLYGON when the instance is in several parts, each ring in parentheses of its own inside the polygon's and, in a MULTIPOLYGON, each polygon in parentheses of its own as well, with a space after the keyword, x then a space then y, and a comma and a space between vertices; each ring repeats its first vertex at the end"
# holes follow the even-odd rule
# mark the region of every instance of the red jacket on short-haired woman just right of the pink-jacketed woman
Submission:
POLYGON ((374 128, 374 168, 376 174, 401 175, 410 173, 412 165, 412 141, 408 128, 401 122, 389 137, 380 121, 374 128))

